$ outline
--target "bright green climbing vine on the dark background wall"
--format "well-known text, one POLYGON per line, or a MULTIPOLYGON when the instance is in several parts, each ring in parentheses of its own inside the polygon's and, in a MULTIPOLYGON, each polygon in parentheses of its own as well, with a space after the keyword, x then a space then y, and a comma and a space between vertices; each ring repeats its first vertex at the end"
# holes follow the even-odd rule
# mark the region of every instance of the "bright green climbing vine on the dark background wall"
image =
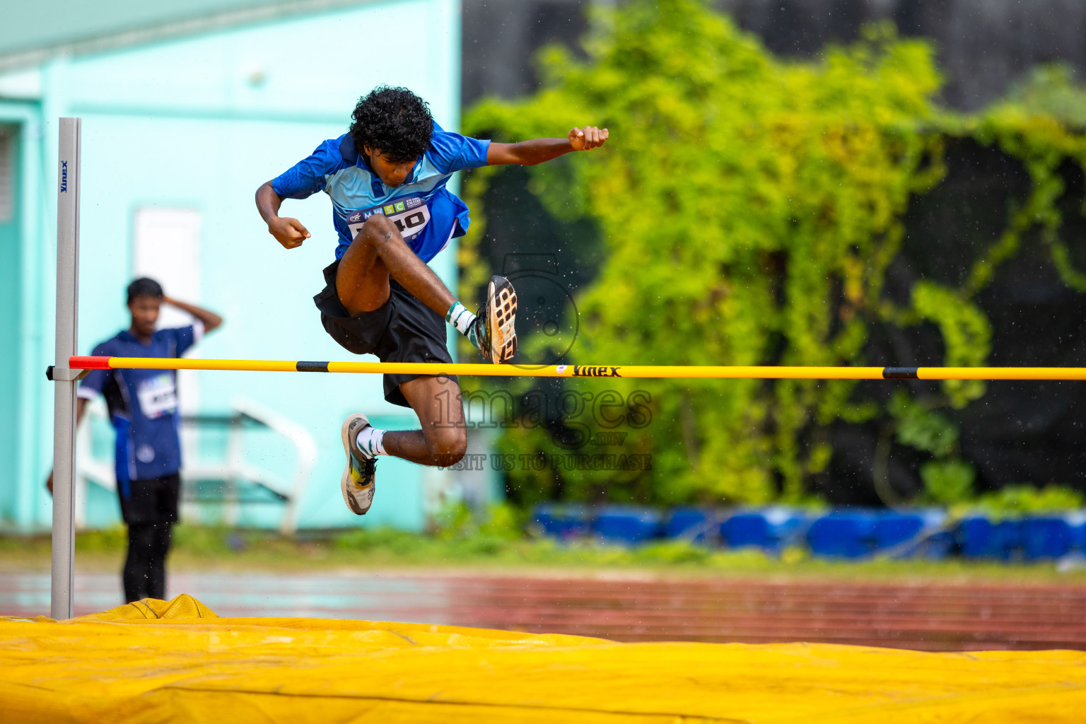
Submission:
MULTIPOLYGON (((1066 161, 1086 166, 1086 139, 1043 103, 1011 99, 968 117, 939 109, 931 46, 888 25, 812 62, 774 59, 700 0, 633 0, 599 12, 594 27, 586 60, 551 48, 540 58, 539 92, 485 100, 465 117, 467 132, 497 140, 586 122, 611 131, 598 152, 531 168, 530 190, 548 212, 591 217, 606 247, 594 283, 577 299, 580 335, 569 361, 883 365, 893 360, 864 358, 873 326, 931 323, 946 365, 984 365, 992 330, 976 295, 1033 231, 1064 282, 1086 291, 1057 207, 1057 169, 1066 161), (944 178, 945 144, 955 137, 1020 158, 1031 191, 959 287, 922 281, 894 303, 884 287, 902 217, 911 199, 944 178)), ((1064 80, 1046 77, 1057 89, 1046 98, 1065 92, 1064 80)), ((465 186, 477 216, 460 247, 468 285, 489 272, 478 217, 495 173, 483 169, 465 186)), ((923 429, 925 416, 930 429, 952 430, 939 408, 985 393, 983 382, 947 382, 939 399, 918 406, 896 396, 887 406, 849 381, 579 380, 577 389, 592 398, 613 391, 628 408, 631 395, 643 395, 651 424, 623 428, 608 452, 651 455, 652 465, 517 466, 507 475, 525 499, 799 501, 832 459, 829 425, 876 418, 897 420, 898 442, 931 456, 922 477, 933 497, 952 498, 973 480, 957 444, 906 431, 923 429)), ((545 425, 512 425, 497 444, 520 455, 558 449, 545 425)))

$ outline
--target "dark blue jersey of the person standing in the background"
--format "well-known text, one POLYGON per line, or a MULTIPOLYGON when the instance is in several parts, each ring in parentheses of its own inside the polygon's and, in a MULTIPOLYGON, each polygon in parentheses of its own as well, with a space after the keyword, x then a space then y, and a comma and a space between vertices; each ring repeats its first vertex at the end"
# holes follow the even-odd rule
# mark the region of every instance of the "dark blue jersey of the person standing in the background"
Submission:
MULTIPOLYGON (((128 330, 102 342, 98 357, 180 357, 203 335, 199 321, 189 327, 160 329, 149 344, 128 330)), ((83 378, 79 396, 105 396, 110 422, 117 433, 117 490, 129 497, 129 481, 172 475, 181 469, 178 436, 177 372, 162 369, 96 369, 83 378)))

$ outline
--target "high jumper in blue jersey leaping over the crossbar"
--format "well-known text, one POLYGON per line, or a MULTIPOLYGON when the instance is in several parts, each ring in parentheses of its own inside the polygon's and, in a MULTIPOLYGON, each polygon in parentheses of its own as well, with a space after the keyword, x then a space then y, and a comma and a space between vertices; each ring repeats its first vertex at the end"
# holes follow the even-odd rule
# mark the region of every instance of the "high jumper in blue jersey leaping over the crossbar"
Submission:
MULTIPOLYGON (((445 185, 463 168, 531 166, 595 149, 607 129, 585 126, 566 138, 492 143, 443 130, 422 99, 388 87, 363 97, 352 117, 346 134, 256 190, 268 232, 286 249, 300 246, 310 232, 298 219, 279 216, 282 200, 317 191, 331 196, 339 246, 325 268, 326 287, 314 297, 325 330, 348 351, 381 361, 451 363, 447 321, 487 359, 509 361, 517 351, 517 295, 508 280, 491 277, 487 299, 471 314, 426 265, 468 228, 468 207, 445 185)), ((374 501, 376 456, 449 466, 467 450, 455 377, 386 374, 384 398, 414 409, 422 430, 377 430, 361 412, 343 421, 340 486, 359 516, 374 501)))

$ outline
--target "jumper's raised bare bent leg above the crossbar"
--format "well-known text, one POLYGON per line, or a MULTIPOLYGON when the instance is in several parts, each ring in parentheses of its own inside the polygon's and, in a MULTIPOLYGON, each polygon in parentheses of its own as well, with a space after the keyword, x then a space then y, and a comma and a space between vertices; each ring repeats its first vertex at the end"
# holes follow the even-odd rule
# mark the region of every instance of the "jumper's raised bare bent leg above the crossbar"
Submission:
POLYGON ((456 297, 380 214, 366 219, 336 271, 336 293, 348 314, 372 312, 389 301, 389 278, 445 318, 456 297))

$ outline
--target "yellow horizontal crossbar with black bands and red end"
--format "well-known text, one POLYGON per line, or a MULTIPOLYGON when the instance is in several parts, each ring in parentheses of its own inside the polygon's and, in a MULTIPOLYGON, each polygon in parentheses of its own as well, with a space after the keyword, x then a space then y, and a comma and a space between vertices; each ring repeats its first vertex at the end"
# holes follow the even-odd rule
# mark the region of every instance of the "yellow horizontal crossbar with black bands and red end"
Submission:
POLYGON ((1086 367, 744 367, 675 365, 484 365, 71 357, 72 369, 211 369, 468 377, 618 377, 702 380, 1086 380, 1086 367))

